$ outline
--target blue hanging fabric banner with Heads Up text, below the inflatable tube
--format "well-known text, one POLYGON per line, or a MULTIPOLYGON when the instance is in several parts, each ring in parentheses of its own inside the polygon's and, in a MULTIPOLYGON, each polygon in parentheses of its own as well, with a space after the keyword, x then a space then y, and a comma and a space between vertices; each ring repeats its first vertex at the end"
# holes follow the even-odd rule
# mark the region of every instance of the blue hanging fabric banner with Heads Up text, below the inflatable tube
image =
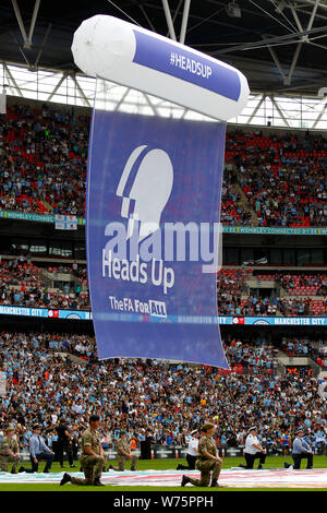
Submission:
POLYGON ((218 249, 225 129, 94 111, 86 241, 99 358, 228 368, 209 265, 218 249))

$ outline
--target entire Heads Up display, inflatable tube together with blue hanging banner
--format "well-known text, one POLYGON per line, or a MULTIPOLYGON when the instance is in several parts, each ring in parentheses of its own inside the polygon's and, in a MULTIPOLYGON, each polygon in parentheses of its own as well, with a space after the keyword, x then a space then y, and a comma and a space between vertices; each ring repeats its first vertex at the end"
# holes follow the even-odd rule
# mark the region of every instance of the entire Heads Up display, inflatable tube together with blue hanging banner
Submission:
POLYGON ((246 105, 247 81, 213 57, 100 14, 80 25, 72 52, 104 85, 93 114, 86 206, 99 358, 228 368, 216 288, 225 131, 246 105), (112 111, 106 88, 114 84, 213 121, 112 111))

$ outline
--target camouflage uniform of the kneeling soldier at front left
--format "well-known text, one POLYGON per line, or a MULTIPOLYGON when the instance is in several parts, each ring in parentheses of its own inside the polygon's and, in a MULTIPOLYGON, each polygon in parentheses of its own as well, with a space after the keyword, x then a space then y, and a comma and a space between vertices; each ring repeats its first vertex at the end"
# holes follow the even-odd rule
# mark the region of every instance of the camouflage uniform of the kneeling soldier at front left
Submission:
POLYGON ((102 456, 99 454, 100 437, 98 431, 87 428, 82 434, 81 445, 81 466, 85 478, 71 476, 71 482, 74 485, 94 485, 94 481, 101 477, 106 465, 105 454, 102 456), (96 453, 95 455, 85 452, 87 445, 96 453))

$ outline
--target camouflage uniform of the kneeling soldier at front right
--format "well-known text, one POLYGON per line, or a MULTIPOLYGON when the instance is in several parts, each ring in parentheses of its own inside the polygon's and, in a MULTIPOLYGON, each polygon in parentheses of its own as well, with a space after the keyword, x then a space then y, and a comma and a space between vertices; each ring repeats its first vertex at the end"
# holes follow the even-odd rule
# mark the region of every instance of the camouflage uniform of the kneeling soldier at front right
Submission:
POLYGON ((216 442, 207 437, 202 437, 198 442, 198 458, 196 460, 196 468, 201 472, 201 478, 189 478, 190 482, 195 487, 208 487, 211 480, 217 481, 221 470, 221 463, 216 460, 208 458, 203 453, 207 452, 213 456, 218 456, 216 442))

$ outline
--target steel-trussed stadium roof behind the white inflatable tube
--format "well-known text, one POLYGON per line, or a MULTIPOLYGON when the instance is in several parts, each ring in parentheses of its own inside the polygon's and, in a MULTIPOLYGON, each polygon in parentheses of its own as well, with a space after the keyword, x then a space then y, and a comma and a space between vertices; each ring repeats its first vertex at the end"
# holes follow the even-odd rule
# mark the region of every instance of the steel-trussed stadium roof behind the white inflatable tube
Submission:
POLYGON ((252 93, 247 122, 267 124, 272 117, 277 126, 327 128, 327 0, 3 0, 3 85, 25 96, 12 68, 21 67, 37 74, 41 92, 48 70, 52 90, 38 99, 56 100, 60 88, 73 85, 80 105, 90 106, 93 86, 81 82, 71 45, 78 25, 95 14, 130 21, 240 69, 252 93))

